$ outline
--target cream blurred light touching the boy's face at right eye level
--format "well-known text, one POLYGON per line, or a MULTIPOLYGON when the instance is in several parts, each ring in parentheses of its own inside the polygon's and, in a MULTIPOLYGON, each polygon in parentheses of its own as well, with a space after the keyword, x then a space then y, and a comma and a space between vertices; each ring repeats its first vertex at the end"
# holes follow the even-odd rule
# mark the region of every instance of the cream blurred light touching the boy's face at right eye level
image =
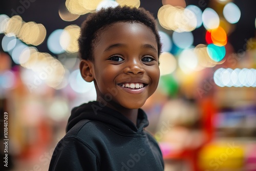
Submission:
POLYGON ((163 52, 159 57, 159 61, 160 75, 171 74, 177 68, 177 60, 169 52, 163 52))

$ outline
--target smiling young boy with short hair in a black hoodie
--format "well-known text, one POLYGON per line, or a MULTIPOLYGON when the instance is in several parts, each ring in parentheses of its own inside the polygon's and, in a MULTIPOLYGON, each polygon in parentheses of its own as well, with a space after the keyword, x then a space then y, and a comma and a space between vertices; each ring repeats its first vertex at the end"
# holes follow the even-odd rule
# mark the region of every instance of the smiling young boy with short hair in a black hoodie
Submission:
POLYGON ((163 170, 141 106, 158 86, 161 43, 144 9, 115 7, 88 16, 79 38, 80 72, 97 101, 74 108, 49 170, 163 170))

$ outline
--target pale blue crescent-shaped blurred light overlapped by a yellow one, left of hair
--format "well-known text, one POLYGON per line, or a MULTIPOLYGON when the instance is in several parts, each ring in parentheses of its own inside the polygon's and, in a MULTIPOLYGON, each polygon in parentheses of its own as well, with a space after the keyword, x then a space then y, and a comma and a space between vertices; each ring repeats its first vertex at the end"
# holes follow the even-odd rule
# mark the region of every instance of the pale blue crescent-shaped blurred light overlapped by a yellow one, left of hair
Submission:
POLYGON ((48 49, 55 54, 60 54, 65 52, 65 50, 60 45, 60 36, 63 29, 54 30, 47 39, 48 49))

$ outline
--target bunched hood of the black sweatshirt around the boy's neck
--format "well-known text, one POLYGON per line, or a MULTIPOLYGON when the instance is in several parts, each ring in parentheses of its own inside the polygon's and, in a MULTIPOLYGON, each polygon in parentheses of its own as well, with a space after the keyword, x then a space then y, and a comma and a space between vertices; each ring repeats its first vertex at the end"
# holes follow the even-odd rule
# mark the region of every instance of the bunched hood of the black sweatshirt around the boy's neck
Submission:
POLYGON ((144 127, 148 125, 147 116, 142 109, 138 110, 137 125, 135 125, 116 110, 103 106, 98 101, 91 101, 72 109, 66 131, 68 132, 82 119, 102 122, 124 134, 140 134, 144 127))

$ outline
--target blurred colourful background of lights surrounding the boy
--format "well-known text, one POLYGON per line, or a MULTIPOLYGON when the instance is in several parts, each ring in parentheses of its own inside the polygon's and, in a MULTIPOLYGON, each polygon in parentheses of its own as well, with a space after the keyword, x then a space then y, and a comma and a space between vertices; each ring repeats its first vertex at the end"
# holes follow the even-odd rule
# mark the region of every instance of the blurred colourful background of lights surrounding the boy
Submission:
POLYGON ((80 25, 118 4, 157 19, 161 77, 143 109, 165 171, 256 170, 253 0, 1 1, 1 170, 48 170, 71 109, 96 99, 78 70, 80 25))

